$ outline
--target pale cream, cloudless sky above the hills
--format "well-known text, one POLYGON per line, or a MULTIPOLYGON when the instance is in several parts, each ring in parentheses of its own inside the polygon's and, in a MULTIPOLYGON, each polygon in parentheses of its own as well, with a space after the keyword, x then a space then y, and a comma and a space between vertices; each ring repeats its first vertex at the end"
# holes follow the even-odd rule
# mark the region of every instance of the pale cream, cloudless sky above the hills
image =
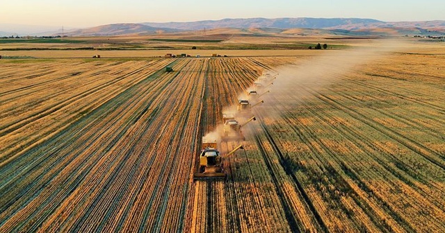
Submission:
POLYGON ((445 20, 445 1, 0 0, 0 24, 82 28, 115 23, 251 17, 357 17, 382 21, 445 20))

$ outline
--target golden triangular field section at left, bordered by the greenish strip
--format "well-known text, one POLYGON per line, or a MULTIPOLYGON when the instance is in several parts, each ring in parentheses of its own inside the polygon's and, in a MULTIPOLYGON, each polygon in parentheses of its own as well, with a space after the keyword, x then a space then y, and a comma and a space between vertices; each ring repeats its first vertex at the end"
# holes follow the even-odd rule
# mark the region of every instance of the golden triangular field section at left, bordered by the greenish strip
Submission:
POLYGON ((0 144, 5 146, 0 148, 0 166, 169 62, 54 62, 45 66, 38 62, 19 71, 19 64, 2 66, 0 144))

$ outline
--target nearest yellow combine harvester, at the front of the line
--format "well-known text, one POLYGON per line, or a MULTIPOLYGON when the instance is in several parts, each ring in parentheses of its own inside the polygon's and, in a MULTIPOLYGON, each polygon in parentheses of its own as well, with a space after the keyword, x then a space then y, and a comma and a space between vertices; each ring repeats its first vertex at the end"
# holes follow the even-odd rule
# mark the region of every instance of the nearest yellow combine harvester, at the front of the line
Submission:
MULTIPOLYGON (((216 140, 209 141, 207 138, 202 137, 200 165, 197 173, 193 174, 193 180, 224 180, 227 177, 221 164, 220 152, 216 149, 216 146, 216 140)), ((227 153, 225 157, 232 155, 239 149, 244 149, 243 145, 237 146, 234 150, 227 153)))

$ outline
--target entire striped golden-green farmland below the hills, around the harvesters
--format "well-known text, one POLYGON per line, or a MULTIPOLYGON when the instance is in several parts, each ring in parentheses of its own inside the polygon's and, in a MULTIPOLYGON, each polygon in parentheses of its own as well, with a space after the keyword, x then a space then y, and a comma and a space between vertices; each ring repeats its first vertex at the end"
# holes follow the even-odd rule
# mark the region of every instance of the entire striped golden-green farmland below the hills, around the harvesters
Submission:
POLYGON ((444 42, 159 37, 0 40, 0 232, 445 232, 444 42))

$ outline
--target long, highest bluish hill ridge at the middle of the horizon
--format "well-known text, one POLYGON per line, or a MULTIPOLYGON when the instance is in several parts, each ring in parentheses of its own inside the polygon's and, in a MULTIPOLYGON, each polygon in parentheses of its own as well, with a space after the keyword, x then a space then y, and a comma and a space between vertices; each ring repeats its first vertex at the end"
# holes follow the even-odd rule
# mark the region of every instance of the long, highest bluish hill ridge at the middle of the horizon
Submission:
POLYGON ((178 30, 196 31, 204 28, 337 28, 346 25, 383 24, 384 21, 357 18, 251 18, 251 19, 220 19, 193 22, 142 23, 148 26, 175 28, 178 30))

